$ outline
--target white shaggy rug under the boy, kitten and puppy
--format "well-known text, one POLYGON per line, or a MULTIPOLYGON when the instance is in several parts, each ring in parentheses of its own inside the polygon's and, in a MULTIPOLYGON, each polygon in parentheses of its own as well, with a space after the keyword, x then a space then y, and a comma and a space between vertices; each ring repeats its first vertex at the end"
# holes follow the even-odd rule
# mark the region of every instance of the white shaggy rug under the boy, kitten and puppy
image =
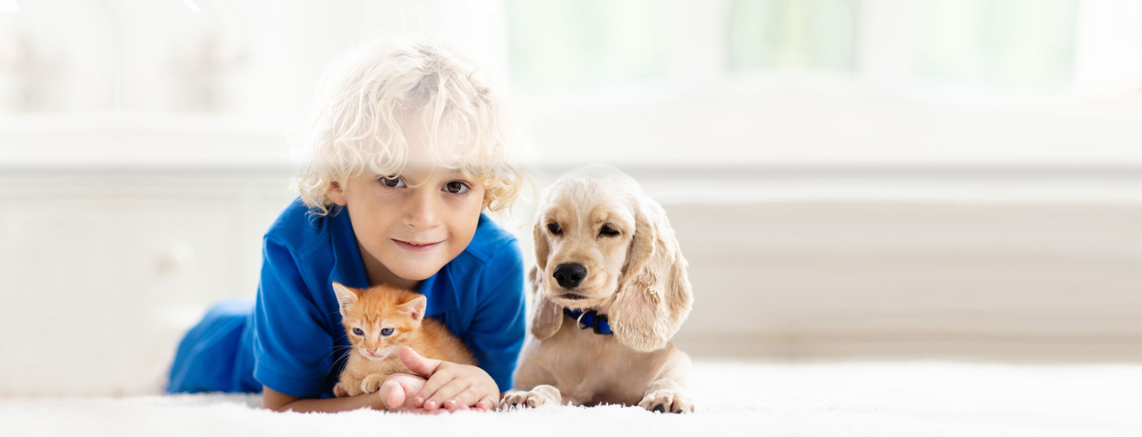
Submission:
POLYGON ((699 412, 274 413, 251 395, 3 398, 5 436, 1140 436, 1142 365, 694 364, 699 412))

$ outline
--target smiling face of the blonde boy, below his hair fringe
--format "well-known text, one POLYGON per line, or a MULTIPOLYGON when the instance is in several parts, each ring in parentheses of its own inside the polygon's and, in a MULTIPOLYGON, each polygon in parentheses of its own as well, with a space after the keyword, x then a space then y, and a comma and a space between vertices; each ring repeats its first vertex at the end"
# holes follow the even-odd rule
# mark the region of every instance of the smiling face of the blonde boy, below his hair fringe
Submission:
POLYGON ((459 170, 431 169, 367 172, 329 189, 329 199, 348 211, 371 281, 412 289, 411 282, 428 278, 472 242, 484 187, 459 170))

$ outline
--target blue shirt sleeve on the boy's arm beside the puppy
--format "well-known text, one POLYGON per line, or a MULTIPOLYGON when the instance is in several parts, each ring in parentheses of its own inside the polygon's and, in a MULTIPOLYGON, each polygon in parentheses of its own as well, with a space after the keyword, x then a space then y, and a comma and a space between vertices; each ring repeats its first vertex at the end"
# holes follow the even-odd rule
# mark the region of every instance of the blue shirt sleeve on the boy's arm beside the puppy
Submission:
POLYGON ((526 334, 520 243, 513 240, 501 245, 486 268, 467 342, 480 367, 496 380, 500 391, 507 391, 526 334))

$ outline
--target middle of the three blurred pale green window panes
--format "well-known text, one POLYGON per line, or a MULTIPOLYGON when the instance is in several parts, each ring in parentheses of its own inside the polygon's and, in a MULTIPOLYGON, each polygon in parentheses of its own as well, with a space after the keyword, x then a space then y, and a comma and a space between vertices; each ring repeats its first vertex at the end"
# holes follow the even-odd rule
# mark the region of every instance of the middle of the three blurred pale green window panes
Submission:
POLYGON ((856 0, 733 0, 731 71, 853 71, 856 0))

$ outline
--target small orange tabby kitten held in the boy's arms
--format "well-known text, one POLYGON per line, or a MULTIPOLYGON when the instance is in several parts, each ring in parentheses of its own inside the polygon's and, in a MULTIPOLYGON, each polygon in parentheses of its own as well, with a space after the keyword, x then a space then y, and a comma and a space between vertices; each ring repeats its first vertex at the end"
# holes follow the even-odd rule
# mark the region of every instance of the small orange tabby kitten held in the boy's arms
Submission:
POLYGON ((424 318, 428 299, 424 294, 389 285, 368 290, 333 283, 341 308, 341 324, 348 334, 349 351, 337 396, 356 396, 380 389, 393 373, 412 373, 397 351, 411 347, 426 358, 475 365, 472 353, 444 325, 424 318))

